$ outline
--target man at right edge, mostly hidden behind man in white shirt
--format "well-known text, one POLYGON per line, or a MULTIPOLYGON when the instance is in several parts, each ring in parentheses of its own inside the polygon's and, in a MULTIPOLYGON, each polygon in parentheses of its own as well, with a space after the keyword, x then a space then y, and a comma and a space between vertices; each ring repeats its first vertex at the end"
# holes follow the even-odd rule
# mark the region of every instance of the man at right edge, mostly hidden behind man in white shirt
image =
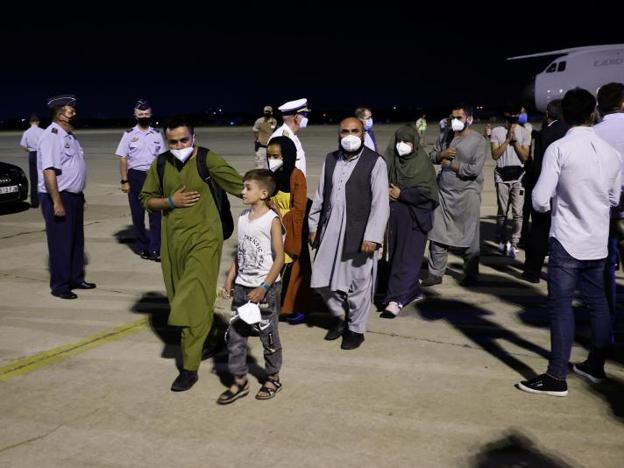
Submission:
MULTIPOLYGON (((598 90, 598 110, 603 120, 594 131, 596 135, 613 146, 624 157, 624 84, 608 83, 598 90)), ((624 170, 624 169, 623 169, 624 170)), ((618 241, 624 237, 624 211, 620 208, 611 210, 611 231, 609 233, 609 255, 605 269, 605 289, 609 312, 615 319, 616 285, 615 272, 618 266, 618 241), (618 229, 618 227, 620 229, 618 229)))

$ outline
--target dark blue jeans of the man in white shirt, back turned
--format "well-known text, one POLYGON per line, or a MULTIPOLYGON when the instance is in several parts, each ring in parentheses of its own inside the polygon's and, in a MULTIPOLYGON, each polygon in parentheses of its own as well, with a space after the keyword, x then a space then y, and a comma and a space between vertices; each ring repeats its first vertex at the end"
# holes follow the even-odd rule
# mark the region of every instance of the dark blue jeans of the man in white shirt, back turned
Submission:
POLYGON ((549 244, 551 353, 548 373, 557 379, 567 376, 575 329, 572 299, 577 286, 590 312, 592 346, 588 363, 594 369, 602 370, 611 343, 611 318, 603 282, 605 259, 577 260, 555 238, 550 238, 549 244))

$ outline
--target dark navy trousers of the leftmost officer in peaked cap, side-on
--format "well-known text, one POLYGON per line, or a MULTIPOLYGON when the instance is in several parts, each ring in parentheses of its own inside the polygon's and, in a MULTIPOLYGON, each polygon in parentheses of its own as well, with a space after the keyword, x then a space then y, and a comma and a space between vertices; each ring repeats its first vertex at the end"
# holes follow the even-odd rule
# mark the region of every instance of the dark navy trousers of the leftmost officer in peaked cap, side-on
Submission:
POLYGON ((61 192, 65 216, 54 216, 52 198, 40 193, 41 211, 46 223, 52 294, 68 292, 84 281, 84 197, 61 192))

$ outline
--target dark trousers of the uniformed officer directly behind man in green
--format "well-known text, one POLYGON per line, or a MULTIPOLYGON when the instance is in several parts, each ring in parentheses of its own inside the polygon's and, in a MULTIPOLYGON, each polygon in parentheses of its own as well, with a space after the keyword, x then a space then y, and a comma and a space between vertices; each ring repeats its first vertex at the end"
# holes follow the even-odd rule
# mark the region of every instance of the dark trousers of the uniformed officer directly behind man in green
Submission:
POLYGON ((128 170, 128 182, 130 191, 128 192, 128 202, 130 203, 130 213, 132 214, 132 225, 136 236, 136 248, 139 252, 149 251, 160 253, 160 211, 149 214, 149 238, 145 231, 145 209, 141 205, 139 195, 145 183, 147 172, 128 170))

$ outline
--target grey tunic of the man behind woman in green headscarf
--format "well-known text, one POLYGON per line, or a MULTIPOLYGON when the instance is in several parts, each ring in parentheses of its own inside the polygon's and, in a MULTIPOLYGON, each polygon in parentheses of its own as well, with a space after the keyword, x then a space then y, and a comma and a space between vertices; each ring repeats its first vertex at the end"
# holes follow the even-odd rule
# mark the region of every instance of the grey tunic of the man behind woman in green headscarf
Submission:
POLYGON ((447 146, 457 149, 454 159, 459 172, 443 169, 438 174, 440 205, 433 213, 433 229, 429 240, 452 247, 469 247, 478 231, 483 187, 483 164, 490 153, 487 140, 475 131, 455 136, 450 145, 446 132, 440 135, 431 152, 437 162, 438 153, 447 146))

